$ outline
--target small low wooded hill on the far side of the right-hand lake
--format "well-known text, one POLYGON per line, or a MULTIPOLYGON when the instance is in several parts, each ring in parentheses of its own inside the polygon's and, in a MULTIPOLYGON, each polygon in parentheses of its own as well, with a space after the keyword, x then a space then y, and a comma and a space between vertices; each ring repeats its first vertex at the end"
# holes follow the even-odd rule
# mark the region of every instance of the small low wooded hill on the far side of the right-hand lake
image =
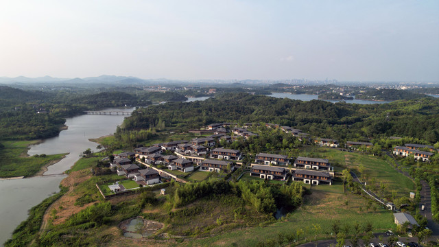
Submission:
POLYGON ((364 93, 355 95, 356 99, 370 99, 370 100, 399 100, 399 99, 418 99, 426 97, 423 94, 413 93, 406 90, 396 89, 368 89, 364 93))

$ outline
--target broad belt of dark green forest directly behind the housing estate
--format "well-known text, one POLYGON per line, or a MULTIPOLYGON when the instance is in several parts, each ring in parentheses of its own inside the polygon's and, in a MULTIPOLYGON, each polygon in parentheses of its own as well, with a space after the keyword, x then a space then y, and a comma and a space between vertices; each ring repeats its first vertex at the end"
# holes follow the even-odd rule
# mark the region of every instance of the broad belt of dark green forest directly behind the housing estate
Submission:
POLYGON ((402 136, 436 143, 439 139, 439 99, 359 105, 227 94, 204 102, 141 108, 124 121, 123 128, 154 128, 159 121, 182 130, 216 122, 253 122, 292 126, 318 137, 334 139, 402 136))

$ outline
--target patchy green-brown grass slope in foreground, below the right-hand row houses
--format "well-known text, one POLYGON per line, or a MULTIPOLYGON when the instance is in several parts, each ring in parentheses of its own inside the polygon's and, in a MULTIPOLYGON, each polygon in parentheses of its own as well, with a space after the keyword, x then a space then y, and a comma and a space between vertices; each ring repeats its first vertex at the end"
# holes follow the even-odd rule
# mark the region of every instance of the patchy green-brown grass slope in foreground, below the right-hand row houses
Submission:
POLYGON ((365 205, 368 200, 351 193, 342 193, 342 185, 313 186, 311 191, 311 196, 305 197, 302 207, 285 215, 282 220, 274 224, 244 228, 206 239, 192 239, 186 246, 256 246, 260 241, 276 238, 278 233, 292 234, 298 229, 304 232, 303 237, 300 237, 301 242, 304 242, 305 237, 308 242, 314 237, 329 237, 331 233, 329 229, 335 220, 340 220, 341 226, 347 224, 351 229, 355 223, 364 226, 368 222, 372 224, 374 232, 396 228, 391 211, 380 207, 375 212, 372 209, 366 210, 365 205), (313 224, 320 226, 321 230, 316 233, 313 224))

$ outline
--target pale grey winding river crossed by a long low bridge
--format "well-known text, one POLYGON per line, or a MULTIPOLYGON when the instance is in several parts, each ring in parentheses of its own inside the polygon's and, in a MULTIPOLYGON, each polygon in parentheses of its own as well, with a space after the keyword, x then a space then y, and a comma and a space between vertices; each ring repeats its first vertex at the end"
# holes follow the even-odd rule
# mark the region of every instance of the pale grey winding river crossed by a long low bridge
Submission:
MULTIPOLYGON (((132 111, 134 108, 110 108, 109 110, 132 111)), ((43 143, 32 145, 27 152, 34 154, 69 153, 60 162, 49 166, 45 176, 36 178, 0 180, 0 244, 11 237, 12 231, 27 218, 27 211, 53 193, 60 191, 59 185, 65 170, 69 169, 87 148, 97 151, 97 143, 88 141, 115 132, 122 123, 122 115, 80 115, 67 118, 67 130, 58 137, 46 139, 43 143), (52 176, 47 176, 52 175, 52 176), (7 199, 5 199, 7 198, 7 199)))

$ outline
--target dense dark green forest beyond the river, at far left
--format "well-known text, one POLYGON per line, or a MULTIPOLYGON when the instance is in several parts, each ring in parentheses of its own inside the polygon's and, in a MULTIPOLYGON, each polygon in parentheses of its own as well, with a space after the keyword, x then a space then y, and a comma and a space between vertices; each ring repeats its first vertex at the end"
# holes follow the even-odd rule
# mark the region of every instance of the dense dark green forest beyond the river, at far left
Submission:
POLYGON ((185 101, 180 93, 89 89, 83 91, 25 91, 0 86, 0 139, 43 139, 60 132, 65 117, 84 110, 107 107, 148 106, 154 102, 185 101))

